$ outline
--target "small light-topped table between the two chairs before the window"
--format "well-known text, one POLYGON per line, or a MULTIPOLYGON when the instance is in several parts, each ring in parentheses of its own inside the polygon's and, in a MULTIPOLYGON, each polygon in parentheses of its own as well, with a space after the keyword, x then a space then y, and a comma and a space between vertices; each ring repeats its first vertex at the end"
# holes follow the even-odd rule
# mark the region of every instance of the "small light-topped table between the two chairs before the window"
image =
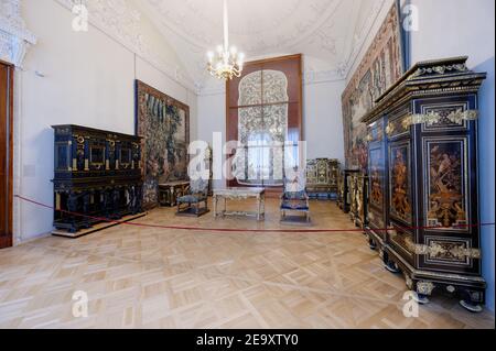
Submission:
POLYGON ((262 220, 266 217, 266 189, 263 188, 226 188, 214 190, 214 216, 251 216, 257 217, 257 220, 262 220), (257 212, 246 211, 227 211, 227 200, 246 200, 257 199, 257 212), (218 201, 224 200, 224 209, 219 210, 218 201))

